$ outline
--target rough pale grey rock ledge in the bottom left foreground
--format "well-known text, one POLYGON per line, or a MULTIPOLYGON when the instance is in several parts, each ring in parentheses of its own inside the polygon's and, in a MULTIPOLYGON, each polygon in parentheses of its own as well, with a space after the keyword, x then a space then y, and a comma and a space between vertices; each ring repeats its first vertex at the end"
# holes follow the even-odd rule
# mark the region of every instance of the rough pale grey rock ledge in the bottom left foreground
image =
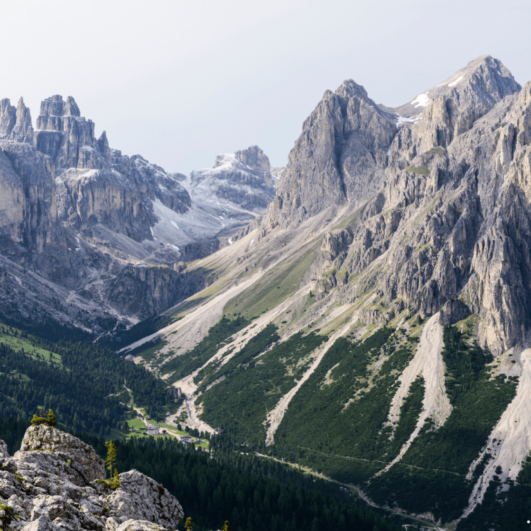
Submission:
POLYGON ((111 490, 93 447, 58 429, 30 427, 10 457, 0 440, 0 527, 24 531, 163 531, 183 519, 176 498, 131 470, 111 490))

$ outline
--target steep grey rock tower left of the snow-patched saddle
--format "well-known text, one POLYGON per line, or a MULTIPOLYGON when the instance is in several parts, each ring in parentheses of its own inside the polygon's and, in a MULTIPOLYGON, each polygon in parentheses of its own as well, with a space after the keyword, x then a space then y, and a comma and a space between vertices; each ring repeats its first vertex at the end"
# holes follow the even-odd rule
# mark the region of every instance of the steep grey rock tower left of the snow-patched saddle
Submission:
POLYGON ((393 115, 345 81, 326 91, 288 159, 263 225, 294 227, 330 206, 359 205, 380 189, 397 131, 393 115))

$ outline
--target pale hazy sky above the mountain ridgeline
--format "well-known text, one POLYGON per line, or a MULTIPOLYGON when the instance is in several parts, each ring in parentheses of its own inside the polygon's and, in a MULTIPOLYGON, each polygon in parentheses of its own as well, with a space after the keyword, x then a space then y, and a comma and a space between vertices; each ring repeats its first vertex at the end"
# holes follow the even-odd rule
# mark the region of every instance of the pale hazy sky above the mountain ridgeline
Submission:
POLYGON ((166 171, 257 144, 285 165, 327 88, 398 106, 478 55, 531 79, 528 0, 5 0, 0 98, 72 95, 166 171))

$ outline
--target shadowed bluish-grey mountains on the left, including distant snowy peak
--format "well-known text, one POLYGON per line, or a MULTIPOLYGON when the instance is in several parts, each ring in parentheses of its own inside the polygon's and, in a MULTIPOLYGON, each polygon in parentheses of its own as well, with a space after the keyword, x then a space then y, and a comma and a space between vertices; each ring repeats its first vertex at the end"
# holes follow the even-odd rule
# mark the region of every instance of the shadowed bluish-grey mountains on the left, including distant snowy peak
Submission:
POLYGON ((102 333, 160 313, 204 287, 185 261, 228 245, 274 197, 257 146, 187 178, 94 129, 70 96, 44 100, 36 129, 22 98, 0 102, 0 297, 15 321, 102 333))

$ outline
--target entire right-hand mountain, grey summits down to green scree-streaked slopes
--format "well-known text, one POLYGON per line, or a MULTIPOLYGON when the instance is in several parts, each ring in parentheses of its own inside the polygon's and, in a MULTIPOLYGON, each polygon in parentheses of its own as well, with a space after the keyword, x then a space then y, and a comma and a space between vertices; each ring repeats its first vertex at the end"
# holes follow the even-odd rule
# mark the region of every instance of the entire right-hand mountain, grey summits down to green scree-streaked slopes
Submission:
POLYGON ((129 351, 237 442, 455 525, 531 449, 530 105, 490 56, 398 109, 327 91, 265 214, 192 265, 212 285, 129 351))

